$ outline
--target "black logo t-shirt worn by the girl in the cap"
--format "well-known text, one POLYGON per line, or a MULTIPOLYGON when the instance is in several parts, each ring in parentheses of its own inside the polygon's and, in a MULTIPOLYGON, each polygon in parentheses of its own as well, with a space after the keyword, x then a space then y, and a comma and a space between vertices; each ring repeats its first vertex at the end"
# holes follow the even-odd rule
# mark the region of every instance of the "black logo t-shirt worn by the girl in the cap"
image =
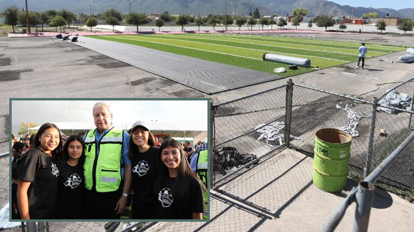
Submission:
POLYGON ((132 210, 152 212, 155 216, 157 198, 152 192, 155 182, 158 147, 151 147, 146 152, 134 154, 132 167, 132 210))

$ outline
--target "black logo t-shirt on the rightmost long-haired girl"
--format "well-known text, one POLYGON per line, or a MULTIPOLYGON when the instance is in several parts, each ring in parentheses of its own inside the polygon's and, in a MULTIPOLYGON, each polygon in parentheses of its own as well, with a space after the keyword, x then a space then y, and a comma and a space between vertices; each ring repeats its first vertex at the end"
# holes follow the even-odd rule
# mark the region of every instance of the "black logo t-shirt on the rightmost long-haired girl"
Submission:
POLYGON ((176 178, 167 177, 158 192, 157 219, 192 219, 192 213, 207 213, 204 187, 196 177, 188 176, 187 194, 172 193, 176 178))

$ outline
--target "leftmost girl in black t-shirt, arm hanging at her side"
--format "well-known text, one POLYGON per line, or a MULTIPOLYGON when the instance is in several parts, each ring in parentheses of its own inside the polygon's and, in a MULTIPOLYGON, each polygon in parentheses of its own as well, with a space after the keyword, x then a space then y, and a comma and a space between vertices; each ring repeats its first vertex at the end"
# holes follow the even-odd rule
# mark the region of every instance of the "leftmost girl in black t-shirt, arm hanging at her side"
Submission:
POLYGON ((45 123, 32 148, 20 157, 17 198, 21 219, 52 219, 59 180, 56 160, 60 162, 61 149, 59 129, 45 123))

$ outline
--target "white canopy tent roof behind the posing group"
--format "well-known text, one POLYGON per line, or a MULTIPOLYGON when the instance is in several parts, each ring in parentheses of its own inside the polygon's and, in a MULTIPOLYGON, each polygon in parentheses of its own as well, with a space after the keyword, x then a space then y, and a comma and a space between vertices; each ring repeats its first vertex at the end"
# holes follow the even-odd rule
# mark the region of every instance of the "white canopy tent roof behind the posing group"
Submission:
MULTIPOLYGON (((59 130, 66 135, 77 134, 80 132, 87 133, 89 130, 95 129, 94 122, 52 122, 59 130)), ((150 127, 150 131, 153 134, 169 134, 170 137, 191 137, 194 138, 197 135, 207 131, 206 125, 193 124, 193 123, 159 123, 159 122, 147 122, 150 127)), ((117 123, 113 122, 116 128, 122 130, 131 129, 133 123, 117 123)), ((29 131, 39 130, 40 126, 30 128, 29 131)))

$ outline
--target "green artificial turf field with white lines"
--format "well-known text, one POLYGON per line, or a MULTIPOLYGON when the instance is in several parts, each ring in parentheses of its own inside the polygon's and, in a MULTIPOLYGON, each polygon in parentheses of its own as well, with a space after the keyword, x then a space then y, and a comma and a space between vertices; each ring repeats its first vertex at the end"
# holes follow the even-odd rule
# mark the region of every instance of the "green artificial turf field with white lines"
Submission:
MULTIPOLYGON (((273 35, 242 34, 160 34, 91 36, 150 49, 162 50, 208 61, 274 73, 276 67, 288 65, 263 61, 264 53, 294 56, 311 60, 311 68, 299 67, 278 75, 289 77, 315 70, 358 61, 359 43, 273 35)), ((405 50, 405 47, 366 44, 366 58, 405 50)))

